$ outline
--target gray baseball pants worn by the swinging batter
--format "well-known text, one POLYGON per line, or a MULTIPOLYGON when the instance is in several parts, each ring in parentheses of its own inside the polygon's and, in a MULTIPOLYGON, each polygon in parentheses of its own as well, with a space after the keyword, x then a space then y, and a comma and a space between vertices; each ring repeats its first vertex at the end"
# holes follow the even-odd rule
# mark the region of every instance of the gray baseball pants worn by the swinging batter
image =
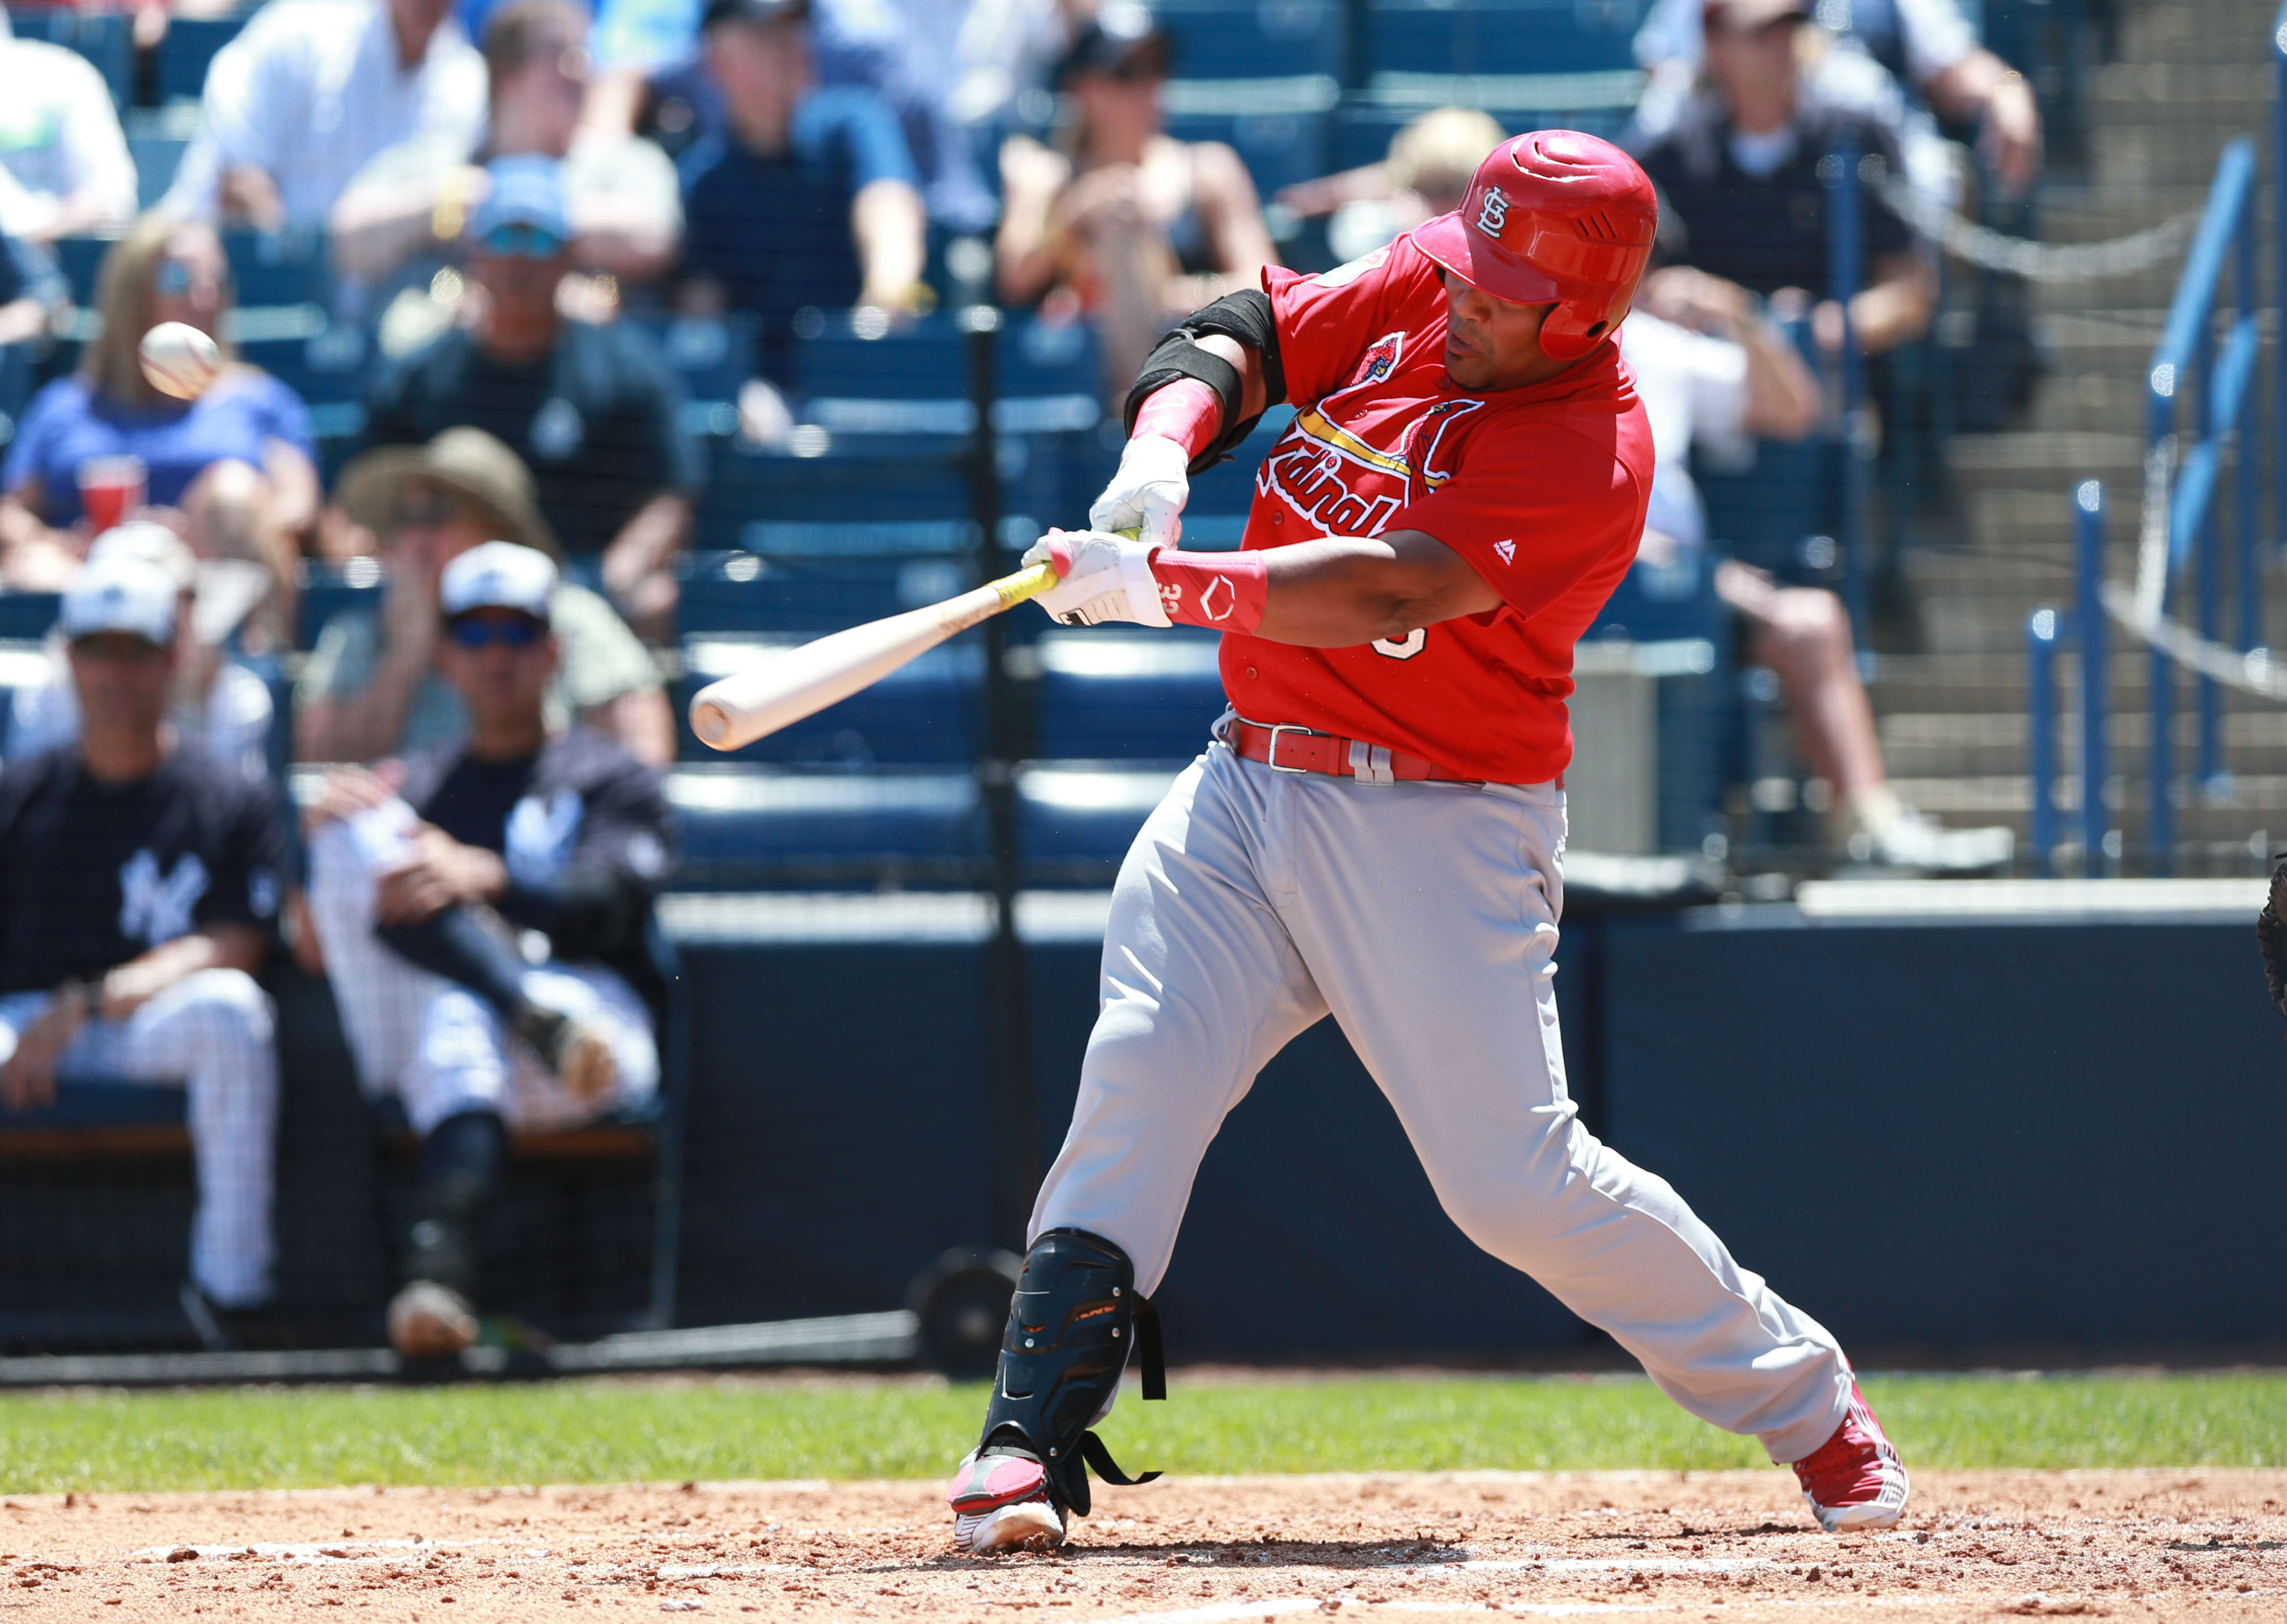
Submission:
POLYGON ((1562 849, 1555 785, 1377 787, 1210 746, 1114 885, 1102 1011, 1031 1233, 1102 1235, 1157 1290, 1224 1116, 1331 1011, 1473 1242, 1683 1409, 1802 1459, 1848 1407, 1841 1347, 1567 1098, 1562 849))

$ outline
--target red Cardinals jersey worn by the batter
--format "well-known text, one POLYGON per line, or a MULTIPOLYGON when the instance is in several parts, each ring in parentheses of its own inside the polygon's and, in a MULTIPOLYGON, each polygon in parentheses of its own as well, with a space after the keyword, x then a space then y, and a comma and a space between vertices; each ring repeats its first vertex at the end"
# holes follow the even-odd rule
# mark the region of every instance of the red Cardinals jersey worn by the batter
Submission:
POLYGON ((1294 423, 1256 473, 1242 547, 1423 531, 1505 599, 1347 650, 1230 631, 1240 716, 1445 771, 1539 785, 1571 759, 1573 643, 1644 535, 1651 425, 1605 343, 1530 389, 1445 377, 1445 286, 1411 238, 1320 277, 1265 270, 1294 423))

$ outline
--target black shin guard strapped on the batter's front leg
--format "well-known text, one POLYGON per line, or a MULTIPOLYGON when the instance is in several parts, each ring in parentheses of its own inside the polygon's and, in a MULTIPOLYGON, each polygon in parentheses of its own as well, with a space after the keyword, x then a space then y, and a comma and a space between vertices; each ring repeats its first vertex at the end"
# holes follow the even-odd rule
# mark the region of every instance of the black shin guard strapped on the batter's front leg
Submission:
POLYGON ((1057 1503, 1089 1514, 1089 1466, 1105 1482, 1130 1478, 1089 1427, 1111 1404, 1134 1352, 1144 1398, 1166 1398, 1160 1315, 1137 1297, 1127 1253, 1100 1235, 1052 1228, 1025 1253, 1025 1274, 1009 1304, 993 1407, 981 1452, 1022 1452, 1047 1471, 1057 1503))

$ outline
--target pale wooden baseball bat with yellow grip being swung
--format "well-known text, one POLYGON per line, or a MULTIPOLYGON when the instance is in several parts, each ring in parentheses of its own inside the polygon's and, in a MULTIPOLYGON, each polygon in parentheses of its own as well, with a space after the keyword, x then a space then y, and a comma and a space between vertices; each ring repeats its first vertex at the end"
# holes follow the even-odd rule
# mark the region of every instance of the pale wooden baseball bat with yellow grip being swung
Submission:
POLYGON ((691 695, 691 732, 711 750, 736 750, 867 688, 945 638, 1057 586, 1054 565, 1031 565, 929 608, 869 620, 803 643, 691 695))

